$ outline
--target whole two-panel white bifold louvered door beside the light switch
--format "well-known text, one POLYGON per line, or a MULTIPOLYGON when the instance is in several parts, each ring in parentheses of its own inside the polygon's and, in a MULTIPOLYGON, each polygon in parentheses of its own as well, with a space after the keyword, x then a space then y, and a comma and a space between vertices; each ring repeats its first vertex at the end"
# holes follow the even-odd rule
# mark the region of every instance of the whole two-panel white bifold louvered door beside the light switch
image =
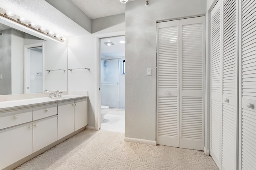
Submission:
POLYGON ((158 23, 157 144, 203 150, 204 22, 158 23))

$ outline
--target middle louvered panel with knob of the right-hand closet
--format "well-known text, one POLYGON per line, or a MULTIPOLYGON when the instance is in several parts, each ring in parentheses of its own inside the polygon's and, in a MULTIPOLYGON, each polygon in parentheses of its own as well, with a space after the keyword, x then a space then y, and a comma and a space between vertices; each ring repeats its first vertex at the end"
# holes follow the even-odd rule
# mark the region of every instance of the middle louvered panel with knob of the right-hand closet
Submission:
POLYGON ((238 0, 223 1, 222 170, 238 168, 238 0))

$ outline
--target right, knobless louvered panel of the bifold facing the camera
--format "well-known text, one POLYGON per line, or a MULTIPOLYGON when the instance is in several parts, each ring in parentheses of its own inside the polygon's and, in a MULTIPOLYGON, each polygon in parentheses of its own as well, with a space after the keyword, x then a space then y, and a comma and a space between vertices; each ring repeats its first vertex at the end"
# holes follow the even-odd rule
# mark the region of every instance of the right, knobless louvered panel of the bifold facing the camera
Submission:
POLYGON ((180 20, 180 147, 204 149, 205 17, 180 20))

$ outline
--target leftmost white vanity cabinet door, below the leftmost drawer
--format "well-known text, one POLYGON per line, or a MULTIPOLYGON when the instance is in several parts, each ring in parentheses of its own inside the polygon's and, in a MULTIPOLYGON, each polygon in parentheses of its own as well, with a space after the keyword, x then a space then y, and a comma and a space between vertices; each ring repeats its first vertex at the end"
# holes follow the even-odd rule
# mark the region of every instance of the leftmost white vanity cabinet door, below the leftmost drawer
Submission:
POLYGON ((32 123, 0 131, 0 169, 32 153, 32 123))

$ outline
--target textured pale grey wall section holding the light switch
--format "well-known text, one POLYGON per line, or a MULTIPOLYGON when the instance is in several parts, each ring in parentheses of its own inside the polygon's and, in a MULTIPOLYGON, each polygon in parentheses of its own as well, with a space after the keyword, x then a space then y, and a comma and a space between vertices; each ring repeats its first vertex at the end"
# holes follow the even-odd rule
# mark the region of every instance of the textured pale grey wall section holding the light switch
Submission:
POLYGON ((126 137, 156 141, 156 21, 206 14, 206 0, 126 3, 126 137), (146 69, 152 68, 152 76, 146 69))

